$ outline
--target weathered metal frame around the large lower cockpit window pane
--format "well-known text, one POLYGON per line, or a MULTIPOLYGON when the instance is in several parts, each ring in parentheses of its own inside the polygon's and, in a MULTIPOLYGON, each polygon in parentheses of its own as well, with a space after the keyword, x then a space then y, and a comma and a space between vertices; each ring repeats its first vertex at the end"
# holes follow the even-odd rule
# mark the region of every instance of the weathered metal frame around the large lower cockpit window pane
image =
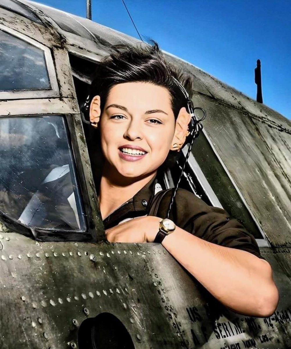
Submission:
MULTIPOLYGON (((52 48, 53 50, 53 48, 52 48)), ((84 208, 84 214, 87 224, 87 234, 70 232, 68 241, 90 241, 90 242, 104 242, 106 241, 104 225, 101 219, 100 208, 92 169, 87 150, 87 145, 84 142, 84 130, 82 125, 81 114, 76 98, 75 86, 72 77, 72 71, 69 62, 68 51, 66 48, 58 48, 54 52, 54 74, 58 77, 60 83, 60 90, 62 91, 62 98, 37 98, 34 93, 30 99, 15 98, 8 100, 0 100, 0 118, 1 117, 34 117, 44 116, 50 114, 57 114, 66 118, 68 126, 68 137, 70 140, 70 147, 74 157, 74 165, 76 168, 76 177, 81 193, 81 200, 84 208), (68 95, 69 93, 69 96, 68 95), (25 110, 25 113, 22 112, 25 110)), ((0 96, 1 98, 1 96, 0 96)), ((46 236, 46 239, 41 236, 33 235, 34 232, 29 228, 20 225, 17 222, 11 222, 5 217, 1 217, 1 221, 12 227, 12 231, 22 233, 33 239, 45 241, 64 241, 63 236, 57 237, 55 232, 53 236, 46 236)), ((47 231, 43 231, 46 232, 47 231)))

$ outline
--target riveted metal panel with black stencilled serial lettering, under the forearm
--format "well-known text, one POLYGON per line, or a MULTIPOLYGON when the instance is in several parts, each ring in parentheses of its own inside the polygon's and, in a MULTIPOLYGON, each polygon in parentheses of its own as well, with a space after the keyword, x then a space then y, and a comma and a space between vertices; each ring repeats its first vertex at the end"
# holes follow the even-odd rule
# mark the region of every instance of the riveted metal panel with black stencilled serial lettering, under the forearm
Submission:
MULTIPOLYGON (((271 248, 260 250, 273 268, 280 301, 275 313, 267 318, 246 317, 226 309, 195 279, 186 275, 185 269, 178 268, 170 255, 167 261, 156 259, 155 246, 151 250, 146 244, 140 248, 148 254, 147 264, 149 270, 153 270, 156 290, 161 300, 164 299, 169 317, 174 314, 173 319, 187 348, 285 348, 290 345, 291 302, 288 295, 291 281, 271 248)), ((163 253, 168 255, 166 251, 163 253)))

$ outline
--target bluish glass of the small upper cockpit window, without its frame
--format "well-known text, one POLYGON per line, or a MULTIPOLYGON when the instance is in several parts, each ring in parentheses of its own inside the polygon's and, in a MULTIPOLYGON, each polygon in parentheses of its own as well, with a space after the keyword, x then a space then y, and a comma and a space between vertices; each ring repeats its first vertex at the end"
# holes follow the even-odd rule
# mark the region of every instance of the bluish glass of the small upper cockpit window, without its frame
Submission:
POLYGON ((0 91, 51 89, 44 51, 0 30, 0 91))

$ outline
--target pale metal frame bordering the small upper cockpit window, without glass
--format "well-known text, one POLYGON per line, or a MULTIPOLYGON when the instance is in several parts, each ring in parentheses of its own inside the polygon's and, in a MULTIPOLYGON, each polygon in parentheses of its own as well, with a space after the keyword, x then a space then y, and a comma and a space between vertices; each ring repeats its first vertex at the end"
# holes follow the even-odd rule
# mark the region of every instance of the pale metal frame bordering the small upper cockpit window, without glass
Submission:
POLYGON ((16 90, 16 91, 0 91, 0 100, 1 99, 29 99, 29 98, 46 98, 46 97, 59 97, 60 90, 58 86, 58 80, 56 78, 54 61, 52 57, 51 50, 49 47, 39 43, 38 41, 21 34, 20 32, 8 28, 7 26, 0 24, 0 29, 7 32, 8 34, 15 36, 18 39, 21 39, 44 52, 46 68, 48 73, 48 79, 51 84, 50 89, 32 89, 32 90, 16 90))

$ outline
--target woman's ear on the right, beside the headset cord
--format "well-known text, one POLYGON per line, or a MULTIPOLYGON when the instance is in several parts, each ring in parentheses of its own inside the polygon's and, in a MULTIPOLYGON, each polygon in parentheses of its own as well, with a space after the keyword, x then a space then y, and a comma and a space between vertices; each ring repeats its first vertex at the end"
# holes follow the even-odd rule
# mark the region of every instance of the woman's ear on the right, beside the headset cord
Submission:
POLYGON ((189 135, 188 125, 190 121, 191 115, 187 112, 185 107, 182 107, 176 120, 175 134, 170 150, 180 151, 186 140, 186 137, 189 135))

